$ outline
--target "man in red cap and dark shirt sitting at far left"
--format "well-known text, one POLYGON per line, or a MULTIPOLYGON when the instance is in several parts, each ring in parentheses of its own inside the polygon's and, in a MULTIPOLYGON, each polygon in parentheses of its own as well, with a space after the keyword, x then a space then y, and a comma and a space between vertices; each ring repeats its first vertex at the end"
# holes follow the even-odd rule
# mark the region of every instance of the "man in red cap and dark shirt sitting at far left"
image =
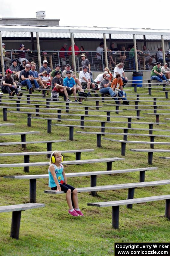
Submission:
POLYGON ((17 89, 17 85, 14 82, 14 78, 11 77, 12 71, 10 69, 6 70, 6 76, 2 77, 2 86, 1 86, 1 90, 4 93, 9 93, 10 96, 14 96, 15 93, 18 97, 18 99, 20 99, 20 97, 23 95, 22 92, 18 92, 17 89))

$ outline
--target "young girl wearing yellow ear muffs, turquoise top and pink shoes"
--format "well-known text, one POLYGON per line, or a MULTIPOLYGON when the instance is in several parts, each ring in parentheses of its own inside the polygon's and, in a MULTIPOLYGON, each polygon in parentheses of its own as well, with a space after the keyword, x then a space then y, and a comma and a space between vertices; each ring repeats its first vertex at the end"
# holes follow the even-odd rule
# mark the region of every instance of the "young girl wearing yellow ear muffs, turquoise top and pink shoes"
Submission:
POLYGON ((79 209, 77 189, 67 184, 67 178, 64 172, 64 167, 61 164, 63 156, 60 151, 54 151, 51 154, 50 166, 48 169, 49 174, 49 187, 52 190, 64 191, 66 193, 66 201, 69 206, 69 214, 72 216, 84 216, 79 209), (73 209, 71 194, 73 193, 73 202, 75 208, 73 209))

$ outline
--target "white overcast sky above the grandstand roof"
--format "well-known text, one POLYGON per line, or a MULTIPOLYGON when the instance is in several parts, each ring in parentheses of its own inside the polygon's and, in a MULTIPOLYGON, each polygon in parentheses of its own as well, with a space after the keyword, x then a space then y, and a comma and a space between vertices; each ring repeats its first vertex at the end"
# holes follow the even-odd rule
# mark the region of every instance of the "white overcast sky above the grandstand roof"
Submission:
POLYGON ((35 18, 46 11, 46 18, 60 19, 60 26, 169 29, 170 1, 29 1, 0 0, 0 17, 35 18))

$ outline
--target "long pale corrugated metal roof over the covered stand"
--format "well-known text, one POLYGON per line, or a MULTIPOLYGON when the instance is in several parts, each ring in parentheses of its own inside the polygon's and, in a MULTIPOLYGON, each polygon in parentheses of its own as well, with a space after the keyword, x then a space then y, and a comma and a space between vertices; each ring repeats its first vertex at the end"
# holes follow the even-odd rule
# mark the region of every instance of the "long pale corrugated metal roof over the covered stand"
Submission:
POLYGON ((170 30, 153 29, 1 25, 0 31, 3 37, 30 37, 30 32, 33 32, 33 36, 36 37, 36 32, 39 32, 40 38, 70 38, 70 33, 74 33, 74 38, 103 39, 105 33, 107 39, 109 34, 113 39, 133 39, 133 34, 135 34, 136 39, 143 39, 143 35, 146 35, 147 40, 159 40, 163 35, 164 40, 170 40, 170 30))

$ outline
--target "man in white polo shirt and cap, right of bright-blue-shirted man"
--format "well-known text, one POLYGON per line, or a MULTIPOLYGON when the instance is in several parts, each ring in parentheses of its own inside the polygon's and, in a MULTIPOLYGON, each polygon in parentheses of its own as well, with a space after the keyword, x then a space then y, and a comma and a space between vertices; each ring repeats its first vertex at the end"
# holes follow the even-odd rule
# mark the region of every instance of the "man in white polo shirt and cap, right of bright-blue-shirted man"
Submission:
MULTIPOLYGON (((80 73, 79 73, 79 79, 80 79, 80 82, 82 84, 82 88, 83 89, 87 88, 87 90, 88 90, 87 94, 88 94, 88 96, 91 97, 90 89, 91 88, 95 88, 95 84, 91 83, 90 75, 87 72, 88 67, 87 66, 83 66, 82 68, 83 68, 83 70, 80 71, 80 73)), ((99 95, 96 93, 96 91, 95 91, 95 97, 99 97, 99 95)))

